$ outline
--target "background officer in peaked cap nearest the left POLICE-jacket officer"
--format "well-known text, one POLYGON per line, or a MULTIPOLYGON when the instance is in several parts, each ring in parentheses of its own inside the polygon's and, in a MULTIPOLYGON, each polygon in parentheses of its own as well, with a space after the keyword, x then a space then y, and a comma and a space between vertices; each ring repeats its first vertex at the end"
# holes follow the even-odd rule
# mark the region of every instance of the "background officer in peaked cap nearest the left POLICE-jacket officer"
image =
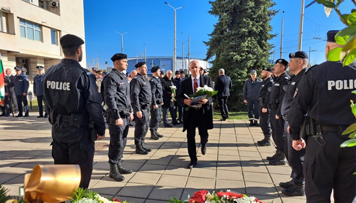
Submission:
POLYGON ((45 78, 44 67, 39 65, 36 66, 38 74, 33 78, 33 94, 37 97, 38 110, 40 115, 37 118, 47 118, 48 114, 45 111, 45 116, 43 115, 43 79, 45 78))

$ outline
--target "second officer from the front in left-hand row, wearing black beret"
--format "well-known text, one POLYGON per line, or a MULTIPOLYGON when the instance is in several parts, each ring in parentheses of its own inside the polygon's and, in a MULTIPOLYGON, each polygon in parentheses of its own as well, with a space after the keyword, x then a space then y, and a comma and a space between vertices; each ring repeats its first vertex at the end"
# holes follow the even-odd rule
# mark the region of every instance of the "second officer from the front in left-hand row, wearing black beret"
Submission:
POLYGON ((125 177, 121 174, 132 173, 131 169, 122 166, 121 161, 127 143, 129 124, 134 119, 134 114, 130 104, 130 84, 123 73, 128 66, 127 55, 115 54, 111 61, 114 68, 101 83, 101 93, 108 106, 106 112, 110 133, 109 177, 115 181, 123 181, 125 177))

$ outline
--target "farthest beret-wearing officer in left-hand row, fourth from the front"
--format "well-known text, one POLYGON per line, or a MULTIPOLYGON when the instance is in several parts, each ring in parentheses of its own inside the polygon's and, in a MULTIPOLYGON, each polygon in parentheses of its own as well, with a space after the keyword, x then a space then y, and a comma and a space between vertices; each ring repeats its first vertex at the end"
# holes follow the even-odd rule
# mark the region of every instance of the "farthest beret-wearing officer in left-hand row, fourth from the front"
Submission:
POLYGON ((152 92, 152 103, 151 103, 151 120, 150 120, 150 131, 151 139, 158 140, 162 138, 163 135, 157 132, 158 124, 161 121, 161 107, 163 104, 163 92, 162 83, 159 75, 161 71, 159 66, 154 66, 151 68, 152 78, 150 80, 151 92, 152 92))

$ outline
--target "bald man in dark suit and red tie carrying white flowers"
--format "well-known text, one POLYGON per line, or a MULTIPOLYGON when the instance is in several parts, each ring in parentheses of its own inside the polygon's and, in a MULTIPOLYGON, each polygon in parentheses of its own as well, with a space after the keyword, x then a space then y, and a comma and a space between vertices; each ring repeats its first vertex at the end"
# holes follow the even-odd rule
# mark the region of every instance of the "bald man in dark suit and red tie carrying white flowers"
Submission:
MULTIPOLYGON (((202 77, 199 74, 200 65, 198 61, 191 61, 189 64, 191 76, 181 82, 181 90, 178 93, 178 103, 185 109, 192 103, 185 95, 196 93, 197 87, 213 87, 210 77, 202 77), (185 94, 185 95, 184 95, 185 94)), ((204 99, 199 102, 198 107, 191 107, 183 114, 183 132, 187 130, 188 154, 190 162, 188 168, 193 168, 197 164, 197 150, 195 143, 195 129, 198 127, 201 143, 201 153, 206 153, 206 143, 208 142, 208 130, 213 129, 213 109, 211 104, 213 98, 204 99)))

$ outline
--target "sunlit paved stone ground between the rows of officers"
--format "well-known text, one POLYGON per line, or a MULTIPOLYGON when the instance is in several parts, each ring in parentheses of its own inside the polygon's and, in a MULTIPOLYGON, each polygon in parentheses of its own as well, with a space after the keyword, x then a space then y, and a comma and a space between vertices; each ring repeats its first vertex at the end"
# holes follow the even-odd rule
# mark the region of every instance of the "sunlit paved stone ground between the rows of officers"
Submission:
MULTIPOLYGON (((36 164, 53 164, 51 126, 36 116, 30 113, 26 119, 0 118, 0 183, 10 195, 18 195, 24 173, 36 164)), ((123 165, 134 172, 125 175, 123 182, 109 178, 107 130, 107 138, 96 144, 100 150, 95 152, 89 188, 105 197, 134 203, 163 203, 172 197, 186 200, 200 189, 231 189, 267 203, 305 202, 305 197, 289 198, 280 192, 278 184, 289 181, 291 170, 288 165, 268 164, 266 157, 273 154, 274 146, 257 147, 263 134, 259 127, 248 127, 247 122, 215 120, 204 156, 197 138, 198 165, 193 169, 185 168, 189 156, 182 126, 164 128, 160 124, 158 132, 164 137, 146 140, 146 146, 153 149, 149 155, 134 154, 134 127, 130 127, 123 165)))

